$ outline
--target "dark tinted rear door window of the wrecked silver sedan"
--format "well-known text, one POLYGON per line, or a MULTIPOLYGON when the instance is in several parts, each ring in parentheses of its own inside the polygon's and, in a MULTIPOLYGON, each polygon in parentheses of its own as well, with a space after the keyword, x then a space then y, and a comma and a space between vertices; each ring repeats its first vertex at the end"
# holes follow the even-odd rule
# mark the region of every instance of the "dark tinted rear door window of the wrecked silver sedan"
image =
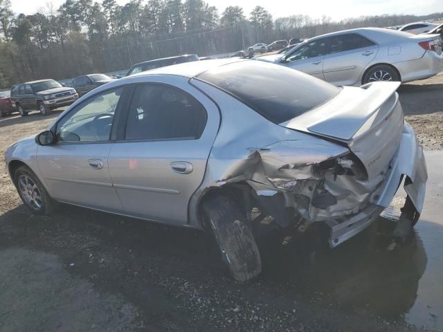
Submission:
POLYGON ((134 93, 127 118, 127 140, 198 139, 206 125, 204 107, 170 86, 145 84, 134 93))

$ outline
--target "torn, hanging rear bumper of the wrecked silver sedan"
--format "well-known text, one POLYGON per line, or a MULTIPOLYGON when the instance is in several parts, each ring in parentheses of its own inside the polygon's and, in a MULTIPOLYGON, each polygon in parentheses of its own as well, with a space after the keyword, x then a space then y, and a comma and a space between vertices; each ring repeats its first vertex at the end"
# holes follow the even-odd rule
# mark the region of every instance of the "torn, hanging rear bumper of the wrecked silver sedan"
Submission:
POLYGON ((343 223, 327 221, 331 228, 330 246, 338 246, 377 220, 379 214, 390 205, 404 176, 406 176, 404 190, 416 212, 420 214, 423 209, 428 172, 422 147, 413 129, 406 122, 399 149, 390 162, 386 180, 381 186, 379 199, 343 223))

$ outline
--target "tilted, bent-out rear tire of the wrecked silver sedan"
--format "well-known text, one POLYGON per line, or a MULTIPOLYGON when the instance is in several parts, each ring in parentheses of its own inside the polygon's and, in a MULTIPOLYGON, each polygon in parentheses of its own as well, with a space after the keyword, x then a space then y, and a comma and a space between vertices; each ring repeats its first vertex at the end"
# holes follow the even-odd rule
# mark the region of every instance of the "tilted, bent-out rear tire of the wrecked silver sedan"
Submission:
POLYGON ((204 203, 203 213, 233 278, 246 282, 259 275, 260 252, 235 201, 227 195, 212 196, 204 203))

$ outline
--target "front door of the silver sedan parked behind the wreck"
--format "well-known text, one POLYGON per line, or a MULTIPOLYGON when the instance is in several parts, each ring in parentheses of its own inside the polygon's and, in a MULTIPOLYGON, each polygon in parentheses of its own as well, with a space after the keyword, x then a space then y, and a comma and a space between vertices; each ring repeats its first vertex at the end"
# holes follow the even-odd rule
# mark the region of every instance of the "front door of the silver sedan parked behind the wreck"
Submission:
POLYGON ((326 53, 326 42, 326 38, 320 38, 301 44, 292 50, 291 53, 285 55, 281 64, 323 80, 323 60, 326 53))

